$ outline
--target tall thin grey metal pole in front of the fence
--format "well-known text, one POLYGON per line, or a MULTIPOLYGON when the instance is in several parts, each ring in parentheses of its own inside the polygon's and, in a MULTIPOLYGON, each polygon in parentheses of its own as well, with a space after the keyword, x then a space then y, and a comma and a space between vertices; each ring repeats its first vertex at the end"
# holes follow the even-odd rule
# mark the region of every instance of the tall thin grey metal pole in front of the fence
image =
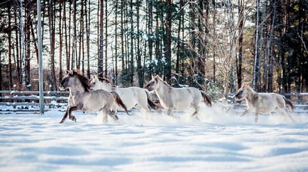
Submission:
POLYGON ((44 115, 44 70, 42 55, 42 23, 41 23, 41 1, 37 0, 37 44, 39 55, 39 90, 40 90, 40 114, 44 115))

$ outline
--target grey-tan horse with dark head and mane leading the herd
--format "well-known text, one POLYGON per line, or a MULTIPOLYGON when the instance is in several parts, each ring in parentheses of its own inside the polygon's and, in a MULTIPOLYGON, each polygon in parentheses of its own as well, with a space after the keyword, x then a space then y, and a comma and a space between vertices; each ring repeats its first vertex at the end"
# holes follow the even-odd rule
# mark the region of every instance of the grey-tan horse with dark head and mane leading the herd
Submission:
POLYGON ((123 104, 117 93, 110 93, 106 90, 89 90, 89 79, 79 73, 78 70, 67 71, 67 75, 60 83, 60 90, 69 88, 69 100, 67 111, 63 115, 60 123, 65 122, 67 115, 69 119, 76 122, 76 117, 71 114, 72 111, 101 111, 103 113, 103 122, 107 122, 107 117, 110 115, 114 120, 118 120, 117 115, 110 109, 114 102, 121 106, 126 113, 127 108, 123 104))

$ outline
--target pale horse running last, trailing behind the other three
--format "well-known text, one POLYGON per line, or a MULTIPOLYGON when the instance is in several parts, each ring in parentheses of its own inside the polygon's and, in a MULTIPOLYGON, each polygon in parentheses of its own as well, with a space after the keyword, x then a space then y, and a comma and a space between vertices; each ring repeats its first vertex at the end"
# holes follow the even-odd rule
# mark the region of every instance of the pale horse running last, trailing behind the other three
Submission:
POLYGON ((293 104, 289 99, 286 99, 283 95, 276 93, 268 93, 266 95, 256 93, 253 88, 250 88, 247 84, 244 84, 235 95, 237 101, 243 99, 246 100, 246 111, 243 115, 255 111, 255 122, 257 122, 259 113, 271 113, 275 111, 277 114, 288 116, 292 122, 295 122, 291 115, 286 111, 286 106, 289 106, 291 112, 293 112, 293 104))

